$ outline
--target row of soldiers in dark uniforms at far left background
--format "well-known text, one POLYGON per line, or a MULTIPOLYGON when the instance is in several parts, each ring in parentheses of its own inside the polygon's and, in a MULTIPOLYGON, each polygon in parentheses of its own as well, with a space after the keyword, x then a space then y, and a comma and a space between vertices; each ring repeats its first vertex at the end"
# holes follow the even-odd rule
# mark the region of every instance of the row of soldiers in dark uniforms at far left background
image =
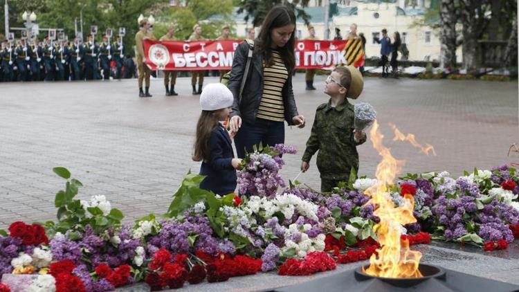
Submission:
POLYGON ((109 42, 107 35, 97 42, 75 38, 44 42, 33 39, 4 39, 0 50, 0 81, 109 80, 136 75, 134 60, 127 54, 122 38, 109 42))

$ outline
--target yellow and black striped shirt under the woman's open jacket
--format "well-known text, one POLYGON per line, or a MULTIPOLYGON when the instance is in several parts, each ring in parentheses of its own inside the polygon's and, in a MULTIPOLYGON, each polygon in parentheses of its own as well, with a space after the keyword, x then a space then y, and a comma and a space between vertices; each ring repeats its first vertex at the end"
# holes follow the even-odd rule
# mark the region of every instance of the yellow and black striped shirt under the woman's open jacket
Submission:
POLYGON ((284 121, 283 86, 289 77, 289 72, 281 58, 280 53, 272 51, 273 63, 267 67, 263 61, 264 86, 260 108, 257 111, 257 118, 273 120, 276 122, 284 121))

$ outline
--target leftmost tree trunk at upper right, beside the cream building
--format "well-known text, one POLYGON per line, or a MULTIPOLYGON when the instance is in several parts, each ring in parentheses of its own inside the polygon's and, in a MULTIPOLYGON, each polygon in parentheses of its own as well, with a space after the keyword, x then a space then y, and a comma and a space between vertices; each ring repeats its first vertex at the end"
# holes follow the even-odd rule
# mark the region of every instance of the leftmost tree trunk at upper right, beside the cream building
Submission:
POLYGON ((456 66, 456 12, 454 1, 441 0, 439 7, 441 19, 441 68, 456 66))

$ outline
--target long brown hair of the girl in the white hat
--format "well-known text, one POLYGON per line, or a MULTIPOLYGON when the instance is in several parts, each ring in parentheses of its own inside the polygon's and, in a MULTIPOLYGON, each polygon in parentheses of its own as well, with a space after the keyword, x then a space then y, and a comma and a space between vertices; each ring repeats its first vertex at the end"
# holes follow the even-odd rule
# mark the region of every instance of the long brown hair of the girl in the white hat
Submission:
POLYGON ((211 149, 209 141, 211 132, 218 127, 215 111, 202 111, 197 122, 197 134, 194 139, 194 161, 209 161, 211 159, 211 149))

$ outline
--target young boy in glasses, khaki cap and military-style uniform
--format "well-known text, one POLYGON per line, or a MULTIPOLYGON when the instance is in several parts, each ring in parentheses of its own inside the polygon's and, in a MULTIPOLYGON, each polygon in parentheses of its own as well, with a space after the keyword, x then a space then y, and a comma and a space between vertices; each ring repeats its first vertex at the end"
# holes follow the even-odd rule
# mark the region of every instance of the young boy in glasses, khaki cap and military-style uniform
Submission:
POLYGON ((358 170, 356 145, 365 143, 366 134, 354 132, 354 106, 347 98, 358 98, 363 86, 361 72, 354 66, 338 66, 326 80, 325 93, 330 100, 317 108, 301 164, 302 172, 306 172, 311 157, 319 150, 321 192, 331 192, 339 181, 349 179, 352 169, 358 170))

